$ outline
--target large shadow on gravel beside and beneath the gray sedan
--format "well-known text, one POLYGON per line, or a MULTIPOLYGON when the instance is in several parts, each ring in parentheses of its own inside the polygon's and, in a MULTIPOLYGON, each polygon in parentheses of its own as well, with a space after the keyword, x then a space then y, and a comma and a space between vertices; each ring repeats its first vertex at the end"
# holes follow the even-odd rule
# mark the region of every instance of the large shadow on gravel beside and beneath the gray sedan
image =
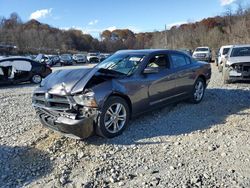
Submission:
POLYGON ((150 142, 150 138, 188 134, 215 125, 223 126, 228 116, 242 114, 242 111, 249 107, 250 94, 247 90, 207 89, 200 104, 172 104, 133 119, 124 133, 118 137, 95 137, 87 142, 94 145, 104 142, 118 145, 156 144, 150 142))

